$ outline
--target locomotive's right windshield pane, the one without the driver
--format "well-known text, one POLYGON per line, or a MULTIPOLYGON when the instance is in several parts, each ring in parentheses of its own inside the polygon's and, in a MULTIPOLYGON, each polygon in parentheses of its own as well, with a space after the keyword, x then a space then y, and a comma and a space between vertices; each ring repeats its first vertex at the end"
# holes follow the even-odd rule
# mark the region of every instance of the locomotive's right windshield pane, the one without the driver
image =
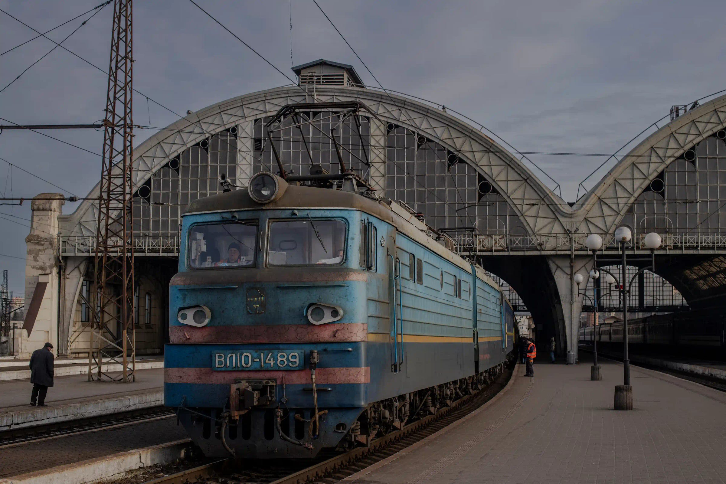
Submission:
POLYGON ((342 220, 295 220, 270 223, 269 266, 334 266, 346 255, 346 223, 342 220))

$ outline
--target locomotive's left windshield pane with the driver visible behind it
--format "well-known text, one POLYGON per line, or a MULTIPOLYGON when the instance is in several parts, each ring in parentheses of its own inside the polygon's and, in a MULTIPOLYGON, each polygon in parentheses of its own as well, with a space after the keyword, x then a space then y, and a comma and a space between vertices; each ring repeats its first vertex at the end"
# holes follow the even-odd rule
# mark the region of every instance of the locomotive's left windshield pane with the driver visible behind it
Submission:
POLYGON ((189 230, 192 268, 254 267, 258 221, 195 225, 189 230))

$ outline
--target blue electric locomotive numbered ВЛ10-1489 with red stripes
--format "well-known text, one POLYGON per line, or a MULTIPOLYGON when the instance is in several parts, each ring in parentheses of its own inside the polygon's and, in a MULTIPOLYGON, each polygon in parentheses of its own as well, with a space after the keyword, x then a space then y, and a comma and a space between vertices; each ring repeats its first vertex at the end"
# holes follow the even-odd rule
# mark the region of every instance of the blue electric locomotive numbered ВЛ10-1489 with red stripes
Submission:
POLYGON ((164 401, 205 456, 365 446, 514 358, 512 306, 451 239, 315 173, 262 171, 182 216, 164 401))

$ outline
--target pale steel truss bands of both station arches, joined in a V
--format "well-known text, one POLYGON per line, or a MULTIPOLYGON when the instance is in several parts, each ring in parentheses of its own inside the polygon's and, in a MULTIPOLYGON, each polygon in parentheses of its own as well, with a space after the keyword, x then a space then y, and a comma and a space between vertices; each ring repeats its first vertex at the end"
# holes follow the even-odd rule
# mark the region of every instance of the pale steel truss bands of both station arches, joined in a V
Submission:
MULTIPOLYGON (((191 112, 171 123, 134 149, 134 189, 147 183, 154 173, 184 150, 233 126, 246 124, 248 131, 245 134, 253 136, 249 127, 251 122, 274 115, 287 104, 359 101, 375 112, 384 125, 425 136, 437 147, 465 160, 492 184, 493 192, 496 192, 492 197, 506 203, 507 210, 521 221, 525 234, 539 236, 571 231, 611 234, 619 223, 627 221, 629 210, 638 197, 648 191, 653 179, 663 176, 664 170, 682 159, 688 149, 726 128, 726 96, 686 112, 624 155, 571 207, 512 152, 444 110, 373 89, 347 86, 311 89, 308 86, 308 91, 298 86, 285 86, 245 94, 191 112)), ((383 133, 374 133, 374 126, 370 129, 371 136, 385 140, 381 136, 386 136, 386 126, 378 126, 383 133)), ((726 153, 724 155, 726 157, 726 153)), ((240 156, 244 154, 238 150, 237 157, 240 156)), ((724 171, 726 173, 726 166, 724 171)), ((385 176, 385 173, 378 175, 385 176)), ((97 197, 98 190, 99 184, 91 189, 88 197, 97 197)), ((95 234, 97 210, 91 200, 84 200, 75 212, 62 216, 61 222, 63 237, 90 237, 95 234)), ((726 227, 726 223, 723 226, 726 227)))

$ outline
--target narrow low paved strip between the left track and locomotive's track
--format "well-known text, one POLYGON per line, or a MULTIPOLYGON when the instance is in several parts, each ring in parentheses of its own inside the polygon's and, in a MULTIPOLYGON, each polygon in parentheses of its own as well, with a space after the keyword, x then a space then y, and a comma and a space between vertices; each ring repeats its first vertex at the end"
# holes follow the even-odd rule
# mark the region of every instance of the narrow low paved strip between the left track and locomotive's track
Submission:
POLYGON ((187 438, 184 427, 171 416, 49 440, 0 448, 0 478, 74 464, 117 452, 155 446, 187 438))

